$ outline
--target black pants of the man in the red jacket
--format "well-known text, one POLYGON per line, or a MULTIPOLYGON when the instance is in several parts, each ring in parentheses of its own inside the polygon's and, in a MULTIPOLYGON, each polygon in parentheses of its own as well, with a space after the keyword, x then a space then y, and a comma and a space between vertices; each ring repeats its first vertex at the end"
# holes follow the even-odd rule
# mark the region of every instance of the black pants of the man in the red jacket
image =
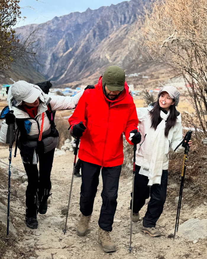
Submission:
MULTIPOLYGON (((84 216, 93 212, 94 198, 98 187, 98 177, 101 166, 81 161, 82 184, 80 188, 80 211, 84 216)), ((98 225, 105 231, 112 231, 114 214, 117 208, 117 196, 119 188, 119 176, 122 165, 103 167, 101 176, 103 190, 101 192, 102 206, 98 225)))

